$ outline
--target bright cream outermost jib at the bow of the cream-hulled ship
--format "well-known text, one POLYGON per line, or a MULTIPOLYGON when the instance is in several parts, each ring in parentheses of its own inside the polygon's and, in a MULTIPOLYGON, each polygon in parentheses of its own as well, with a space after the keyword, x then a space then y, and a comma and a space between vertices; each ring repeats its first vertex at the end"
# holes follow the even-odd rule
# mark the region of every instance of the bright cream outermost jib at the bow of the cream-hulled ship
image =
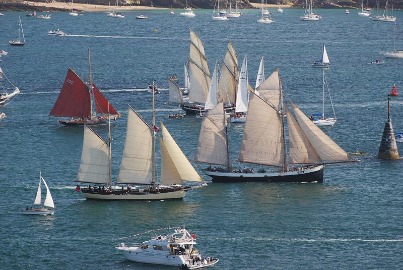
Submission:
POLYGON ((164 145, 174 163, 176 170, 183 181, 200 182, 201 178, 190 164, 189 160, 183 154, 182 150, 176 144, 175 140, 169 134, 168 130, 161 122, 161 132, 164 139, 164 145))

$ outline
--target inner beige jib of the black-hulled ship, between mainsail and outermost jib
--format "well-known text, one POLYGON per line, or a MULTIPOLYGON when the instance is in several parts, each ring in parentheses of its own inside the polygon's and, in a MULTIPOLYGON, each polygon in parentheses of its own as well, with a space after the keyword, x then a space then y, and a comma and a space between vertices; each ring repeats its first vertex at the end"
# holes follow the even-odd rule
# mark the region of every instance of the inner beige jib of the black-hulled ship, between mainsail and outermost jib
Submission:
POLYGON ((322 160, 316 153, 315 149, 312 147, 308 138, 305 136, 298 122, 295 120, 294 116, 290 112, 290 109, 288 109, 287 104, 285 105, 287 112, 290 163, 291 164, 321 163, 322 160))

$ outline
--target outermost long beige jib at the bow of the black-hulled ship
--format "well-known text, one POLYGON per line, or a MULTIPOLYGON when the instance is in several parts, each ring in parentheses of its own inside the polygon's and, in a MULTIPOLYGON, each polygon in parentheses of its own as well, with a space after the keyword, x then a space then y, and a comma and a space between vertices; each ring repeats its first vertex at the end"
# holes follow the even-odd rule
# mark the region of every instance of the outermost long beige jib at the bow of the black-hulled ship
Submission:
POLYGON ((301 129, 304 131, 305 136, 308 138, 320 159, 326 161, 350 159, 349 155, 311 120, 309 120, 309 118, 307 118, 294 103, 291 102, 291 105, 301 129))

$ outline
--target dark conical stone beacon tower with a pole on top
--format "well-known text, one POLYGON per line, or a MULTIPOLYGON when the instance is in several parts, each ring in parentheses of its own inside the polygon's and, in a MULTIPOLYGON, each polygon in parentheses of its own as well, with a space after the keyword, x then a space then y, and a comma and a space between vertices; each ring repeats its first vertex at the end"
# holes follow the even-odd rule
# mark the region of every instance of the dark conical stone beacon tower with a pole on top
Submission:
POLYGON ((378 158, 399 159, 396 140, 394 139, 392 120, 390 119, 390 95, 387 95, 387 122, 383 129, 381 145, 379 146, 378 158))

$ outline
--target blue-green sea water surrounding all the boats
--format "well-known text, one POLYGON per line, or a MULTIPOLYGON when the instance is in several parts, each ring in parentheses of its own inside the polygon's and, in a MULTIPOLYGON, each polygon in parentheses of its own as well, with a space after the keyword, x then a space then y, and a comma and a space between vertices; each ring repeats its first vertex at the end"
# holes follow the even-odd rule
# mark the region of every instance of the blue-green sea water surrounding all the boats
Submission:
MULTIPOLYGON (((275 10, 274 10, 275 11, 275 10)), ((257 10, 240 18, 211 20, 211 11, 194 18, 169 11, 141 12, 148 20, 105 13, 52 13, 52 19, 3 12, 0 17, 2 69, 21 94, 7 107, 0 122, 0 268, 2 269, 175 269, 125 260, 114 239, 150 229, 185 224, 198 236, 197 247, 220 258, 216 269, 400 269, 403 265, 402 161, 376 159, 387 117, 386 95, 392 84, 403 94, 403 62, 386 59, 371 65, 388 39, 392 24, 358 17, 357 11, 319 10, 323 19, 303 22, 301 9, 275 13, 276 23, 255 23, 257 10), (21 16, 26 45, 9 46, 17 37, 21 16), (48 36, 62 29, 69 36, 48 36), (192 190, 181 201, 94 202, 77 193, 75 183, 83 138, 82 127, 63 127, 48 114, 69 67, 86 80, 91 48, 93 81, 122 113, 112 124, 113 178, 122 154, 127 104, 146 121, 151 119, 155 78, 177 74, 183 85, 188 56, 188 29, 205 43, 211 71, 225 55, 228 39, 241 59, 248 56, 249 82, 254 85, 259 58, 265 74, 278 66, 284 92, 302 111, 321 111, 322 73, 310 67, 321 57, 325 42, 331 68, 326 71, 337 124, 323 128, 347 152, 370 153, 361 163, 325 167, 323 184, 211 183, 192 190), (154 32, 157 29, 157 32, 154 32), (32 204, 39 166, 55 202, 51 216, 26 217, 32 204)), ((403 12, 396 11, 396 47, 403 46, 403 12)), ((241 64, 241 63, 240 63, 241 64)), ((200 121, 169 119, 177 109, 156 100, 156 118, 164 122, 188 158, 194 156, 200 121)), ((403 131, 403 102, 391 98, 395 131, 403 131)), ((330 113, 331 108, 326 107, 330 113)), ((103 137, 106 126, 94 129, 103 137)), ((242 125, 231 125, 230 151, 237 157, 242 125)), ((400 154, 403 153, 398 143, 400 154)), ((241 166, 234 164, 234 166, 241 166)), ((200 174, 205 180, 209 178, 200 174)), ((141 236, 133 241, 148 240, 141 236)))

